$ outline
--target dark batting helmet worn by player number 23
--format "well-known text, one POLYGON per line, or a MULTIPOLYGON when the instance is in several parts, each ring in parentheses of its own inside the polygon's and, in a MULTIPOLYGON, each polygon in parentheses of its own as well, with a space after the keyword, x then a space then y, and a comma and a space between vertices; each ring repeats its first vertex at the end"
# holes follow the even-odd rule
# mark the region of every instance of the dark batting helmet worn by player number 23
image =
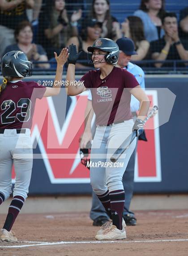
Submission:
POLYGON ((32 75, 32 62, 22 51, 4 54, 1 61, 3 76, 26 77, 32 75))

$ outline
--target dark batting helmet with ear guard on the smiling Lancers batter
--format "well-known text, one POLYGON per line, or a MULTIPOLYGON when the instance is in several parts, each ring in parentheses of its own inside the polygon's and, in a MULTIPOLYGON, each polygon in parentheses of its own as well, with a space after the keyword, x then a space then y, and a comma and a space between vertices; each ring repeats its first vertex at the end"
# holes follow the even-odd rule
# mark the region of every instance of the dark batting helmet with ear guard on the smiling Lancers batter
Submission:
POLYGON ((113 65, 118 62, 119 47, 113 40, 108 38, 98 38, 94 41, 93 46, 89 46, 87 48, 89 53, 93 53, 94 49, 99 49, 107 52, 107 54, 105 54, 104 56, 105 62, 113 65))

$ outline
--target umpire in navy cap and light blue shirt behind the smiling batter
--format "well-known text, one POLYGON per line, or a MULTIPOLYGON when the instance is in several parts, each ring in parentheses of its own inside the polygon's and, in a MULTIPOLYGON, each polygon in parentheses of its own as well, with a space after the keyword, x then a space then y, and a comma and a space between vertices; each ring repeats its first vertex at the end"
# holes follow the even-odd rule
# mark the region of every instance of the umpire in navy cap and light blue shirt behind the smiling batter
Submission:
MULTIPOLYGON (((131 72, 141 87, 145 89, 145 81, 144 81, 144 72, 141 69, 141 67, 138 67, 137 65, 130 62, 131 55, 137 54, 137 52, 134 50, 134 43, 131 39, 123 37, 116 41, 117 45, 120 49, 120 55, 118 59, 118 65, 122 68, 126 68, 128 72, 131 72)), ((81 139, 81 148, 86 148, 86 144, 88 141, 91 141, 93 138, 92 130, 91 130, 91 121, 93 118, 93 109, 92 109, 92 96, 91 92, 89 92, 88 95, 88 103, 85 109, 85 116, 87 116, 85 121, 85 131, 81 139), (91 111, 90 111, 91 110, 91 111), (87 115, 87 113, 90 112, 90 115, 87 115)), ((137 118, 137 111, 140 108, 139 101, 134 97, 131 96, 131 112, 132 117, 134 121, 137 118)), ((124 185, 124 191, 125 191, 125 203, 124 203, 124 213, 123 218, 125 220, 126 225, 136 225, 137 219, 134 216, 134 213, 129 211, 129 206, 132 199, 132 193, 133 193, 133 183, 134 183, 134 166, 135 166, 135 158, 137 153, 137 146, 132 153, 132 156, 128 162, 128 166, 126 168, 126 171, 124 172, 123 176, 123 185, 124 185)), ((94 220, 93 225, 94 226, 101 226, 104 223, 106 223, 109 219, 102 203, 99 201, 98 197, 93 193, 92 194, 92 207, 90 211, 90 218, 94 220)))

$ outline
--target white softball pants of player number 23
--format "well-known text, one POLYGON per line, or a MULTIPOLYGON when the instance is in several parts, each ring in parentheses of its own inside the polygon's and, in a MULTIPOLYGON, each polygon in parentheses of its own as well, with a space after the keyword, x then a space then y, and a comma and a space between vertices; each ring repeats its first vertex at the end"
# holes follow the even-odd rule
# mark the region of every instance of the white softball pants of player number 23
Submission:
POLYGON ((27 198, 33 166, 33 145, 30 129, 17 134, 16 129, 5 129, 0 134, 0 192, 9 198, 12 193, 12 167, 16 174, 13 196, 27 198))

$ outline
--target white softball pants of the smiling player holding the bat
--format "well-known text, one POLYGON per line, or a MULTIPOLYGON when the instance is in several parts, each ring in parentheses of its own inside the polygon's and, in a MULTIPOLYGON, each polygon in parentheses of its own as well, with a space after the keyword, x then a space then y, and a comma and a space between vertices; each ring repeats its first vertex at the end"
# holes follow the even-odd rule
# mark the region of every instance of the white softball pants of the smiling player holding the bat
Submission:
POLYGON ((136 146, 136 138, 116 163, 112 163, 110 157, 132 133, 133 125, 134 121, 130 119, 112 126, 97 127, 90 156, 90 181, 97 195, 102 195, 107 189, 110 192, 124 189, 122 177, 136 146))

